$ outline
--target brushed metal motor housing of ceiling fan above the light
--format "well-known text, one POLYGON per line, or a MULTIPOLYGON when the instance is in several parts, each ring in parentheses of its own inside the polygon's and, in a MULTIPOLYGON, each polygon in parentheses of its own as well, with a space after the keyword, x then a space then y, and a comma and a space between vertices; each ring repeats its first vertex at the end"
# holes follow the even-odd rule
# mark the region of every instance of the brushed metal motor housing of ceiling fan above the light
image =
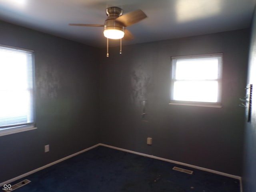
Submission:
POLYGON ((106 9, 106 14, 108 18, 105 20, 104 30, 116 29, 124 31, 124 26, 116 22, 116 18, 123 14, 123 10, 121 8, 109 7, 106 9))

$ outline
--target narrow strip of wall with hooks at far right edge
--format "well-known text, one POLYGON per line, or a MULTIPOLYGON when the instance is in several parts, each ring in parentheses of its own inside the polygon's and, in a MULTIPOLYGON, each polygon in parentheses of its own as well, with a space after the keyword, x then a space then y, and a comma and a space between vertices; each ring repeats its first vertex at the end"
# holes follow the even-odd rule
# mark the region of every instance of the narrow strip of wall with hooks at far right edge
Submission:
POLYGON ((252 89, 252 116, 251 122, 246 122, 244 142, 244 192, 256 191, 256 12, 252 21, 248 84, 253 84, 252 89))

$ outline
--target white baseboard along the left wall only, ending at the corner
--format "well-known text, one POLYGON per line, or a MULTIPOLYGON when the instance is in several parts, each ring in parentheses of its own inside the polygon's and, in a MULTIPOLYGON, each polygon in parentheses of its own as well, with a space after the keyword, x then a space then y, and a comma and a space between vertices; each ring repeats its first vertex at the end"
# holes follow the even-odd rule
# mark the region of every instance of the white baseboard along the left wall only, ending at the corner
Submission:
POLYGON ((50 166, 52 166, 52 165, 54 165, 54 164, 57 164, 57 163, 59 163, 59 162, 62 162, 62 161, 64 161, 64 160, 67 160, 67 159, 69 159, 69 158, 71 158, 71 157, 74 157, 74 156, 76 156, 76 155, 79 155, 79 154, 81 154, 81 153, 83 153, 83 152, 86 152, 86 151, 88 151, 88 150, 91 150, 91 149, 93 149, 93 148, 96 148, 96 147, 98 147, 99 145, 100 145, 100 144, 96 144, 96 145, 91 146, 91 147, 89 147, 89 148, 86 148, 86 149, 84 149, 84 150, 82 150, 82 151, 76 152, 76 153, 74 153, 74 154, 72 154, 72 155, 66 156, 66 157, 64 157, 64 158, 62 158, 62 159, 59 159, 59 160, 54 161, 54 162, 52 162, 52 163, 49 163, 49 164, 47 164, 47 165, 45 165, 45 166, 42 166, 42 167, 40 167, 40 168, 37 168, 37 169, 35 169, 35 170, 32 170, 32 171, 30 171, 30 172, 24 173, 24 174, 22 174, 22 175, 20 175, 20 176, 17 176, 17 177, 15 177, 15 178, 12 178, 12 179, 10 179, 10 180, 7 180, 7 181, 5 181, 5 182, 2 182, 2 183, 0 183, 0 186, 3 186, 4 184, 10 184, 11 182, 14 182, 14 181, 16 181, 16 180, 18 180, 18 179, 21 179, 21 178, 26 177, 26 176, 28 176, 28 175, 30 175, 30 174, 33 174, 33 173, 38 172, 38 171, 40 171, 40 170, 43 170, 43 169, 45 169, 45 168, 47 168, 47 167, 50 167, 50 166))

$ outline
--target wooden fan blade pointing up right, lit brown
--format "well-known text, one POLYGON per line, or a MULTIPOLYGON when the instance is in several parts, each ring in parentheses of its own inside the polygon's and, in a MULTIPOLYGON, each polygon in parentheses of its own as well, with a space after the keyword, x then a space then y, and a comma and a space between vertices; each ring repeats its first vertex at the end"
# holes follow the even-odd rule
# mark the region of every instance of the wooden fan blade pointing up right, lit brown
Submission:
POLYGON ((116 18, 116 21, 123 24, 125 27, 128 27, 130 25, 133 25, 137 22, 139 22, 140 20, 146 18, 146 14, 138 9, 136 11, 124 14, 118 18, 116 18))

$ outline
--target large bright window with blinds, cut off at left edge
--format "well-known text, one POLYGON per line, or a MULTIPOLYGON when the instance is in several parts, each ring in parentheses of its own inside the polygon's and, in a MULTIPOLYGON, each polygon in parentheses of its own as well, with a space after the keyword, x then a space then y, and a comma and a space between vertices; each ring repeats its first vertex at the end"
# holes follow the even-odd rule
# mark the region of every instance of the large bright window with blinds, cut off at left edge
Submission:
POLYGON ((34 128, 34 56, 0 46, 0 135, 34 128))

